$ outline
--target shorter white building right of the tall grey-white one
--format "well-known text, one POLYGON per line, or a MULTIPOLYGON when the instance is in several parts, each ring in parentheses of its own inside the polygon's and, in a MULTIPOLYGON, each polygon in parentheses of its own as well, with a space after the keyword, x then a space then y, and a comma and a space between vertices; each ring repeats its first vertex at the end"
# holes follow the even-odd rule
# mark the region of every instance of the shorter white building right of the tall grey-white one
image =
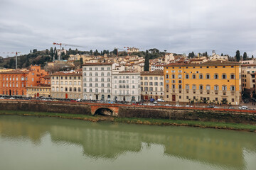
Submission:
POLYGON ((112 72, 113 101, 138 102, 140 96, 139 72, 112 72))

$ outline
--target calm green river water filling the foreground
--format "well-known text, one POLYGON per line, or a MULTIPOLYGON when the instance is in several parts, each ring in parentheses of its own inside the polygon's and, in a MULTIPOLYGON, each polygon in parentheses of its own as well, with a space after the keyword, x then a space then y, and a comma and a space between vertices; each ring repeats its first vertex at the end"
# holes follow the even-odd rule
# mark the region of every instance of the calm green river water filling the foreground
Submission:
POLYGON ((256 169, 256 134, 0 115, 0 169, 256 169))

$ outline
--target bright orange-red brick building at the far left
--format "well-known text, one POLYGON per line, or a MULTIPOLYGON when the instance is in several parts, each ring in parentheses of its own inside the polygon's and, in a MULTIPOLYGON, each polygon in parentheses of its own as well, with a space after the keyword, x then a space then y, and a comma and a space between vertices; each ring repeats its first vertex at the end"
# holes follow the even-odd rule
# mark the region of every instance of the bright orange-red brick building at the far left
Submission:
POLYGON ((29 69, 16 69, 0 73, 0 95, 26 96, 27 86, 38 86, 41 84, 41 77, 48 75, 48 72, 35 65, 29 69))

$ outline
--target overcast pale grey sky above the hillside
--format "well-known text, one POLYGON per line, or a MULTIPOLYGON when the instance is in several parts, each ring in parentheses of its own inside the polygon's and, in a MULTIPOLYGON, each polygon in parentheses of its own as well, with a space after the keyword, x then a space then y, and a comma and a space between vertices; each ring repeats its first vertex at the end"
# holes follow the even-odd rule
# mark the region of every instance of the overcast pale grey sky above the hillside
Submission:
POLYGON ((256 1, 0 0, 0 52, 26 54, 53 42, 256 56, 256 1))

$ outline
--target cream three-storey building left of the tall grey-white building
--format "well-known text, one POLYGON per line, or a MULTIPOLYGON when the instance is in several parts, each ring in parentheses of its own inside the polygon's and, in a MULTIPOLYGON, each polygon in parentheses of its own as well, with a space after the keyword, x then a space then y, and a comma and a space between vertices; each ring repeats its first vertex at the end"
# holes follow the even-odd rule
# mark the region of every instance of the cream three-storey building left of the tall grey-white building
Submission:
POLYGON ((51 97, 82 98, 82 74, 79 72, 55 72, 50 75, 51 97))

